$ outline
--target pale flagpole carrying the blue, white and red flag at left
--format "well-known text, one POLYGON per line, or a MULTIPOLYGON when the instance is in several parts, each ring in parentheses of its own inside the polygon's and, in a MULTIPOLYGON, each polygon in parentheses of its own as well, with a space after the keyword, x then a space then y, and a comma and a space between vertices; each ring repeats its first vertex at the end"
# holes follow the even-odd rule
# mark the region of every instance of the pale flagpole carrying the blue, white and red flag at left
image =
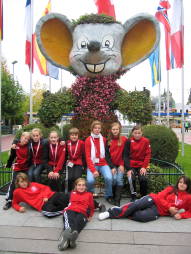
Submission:
POLYGON ((33 123, 33 95, 32 95, 32 71, 33 71, 33 0, 31 0, 31 12, 30 12, 30 118, 29 123, 33 123))

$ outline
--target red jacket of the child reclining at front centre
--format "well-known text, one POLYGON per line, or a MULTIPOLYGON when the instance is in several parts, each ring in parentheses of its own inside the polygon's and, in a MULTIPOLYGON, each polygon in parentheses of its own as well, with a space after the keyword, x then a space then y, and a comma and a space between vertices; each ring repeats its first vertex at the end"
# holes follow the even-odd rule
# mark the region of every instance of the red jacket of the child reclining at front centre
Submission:
POLYGON ((86 217, 94 215, 94 201, 91 192, 73 191, 70 195, 70 203, 65 210, 72 210, 84 214, 86 217))

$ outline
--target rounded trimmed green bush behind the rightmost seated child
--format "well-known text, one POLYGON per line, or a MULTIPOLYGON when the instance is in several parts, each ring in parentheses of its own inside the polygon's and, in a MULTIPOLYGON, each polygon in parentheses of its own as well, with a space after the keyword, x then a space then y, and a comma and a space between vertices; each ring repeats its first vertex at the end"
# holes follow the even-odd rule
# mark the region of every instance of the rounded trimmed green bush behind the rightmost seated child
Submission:
POLYGON ((175 162, 178 155, 178 138, 169 128, 159 125, 143 126, 144 136, 151 142, 152 157, 175 162))

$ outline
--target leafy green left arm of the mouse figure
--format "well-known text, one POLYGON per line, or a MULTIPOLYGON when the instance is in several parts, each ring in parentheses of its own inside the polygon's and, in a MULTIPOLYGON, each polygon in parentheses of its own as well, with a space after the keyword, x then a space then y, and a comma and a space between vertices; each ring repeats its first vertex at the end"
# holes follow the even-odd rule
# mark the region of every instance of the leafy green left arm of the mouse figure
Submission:
POLYGON ((70 89, 55 94, 45 92, 38 116, 45 126, 51 127, 60 122, 63 114, 72 112, 73 108, 74 99, 70 89))

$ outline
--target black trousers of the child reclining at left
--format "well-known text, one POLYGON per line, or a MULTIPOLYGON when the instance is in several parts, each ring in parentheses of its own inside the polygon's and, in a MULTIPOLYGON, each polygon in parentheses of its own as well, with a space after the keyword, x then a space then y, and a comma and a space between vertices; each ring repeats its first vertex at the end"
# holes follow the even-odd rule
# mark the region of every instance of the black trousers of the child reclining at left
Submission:
POLYGON ((68 206, 69 195, 63 192, 55 192, 51 198, 42 206, 42 213, 47 217, 60 215, 68 206))

